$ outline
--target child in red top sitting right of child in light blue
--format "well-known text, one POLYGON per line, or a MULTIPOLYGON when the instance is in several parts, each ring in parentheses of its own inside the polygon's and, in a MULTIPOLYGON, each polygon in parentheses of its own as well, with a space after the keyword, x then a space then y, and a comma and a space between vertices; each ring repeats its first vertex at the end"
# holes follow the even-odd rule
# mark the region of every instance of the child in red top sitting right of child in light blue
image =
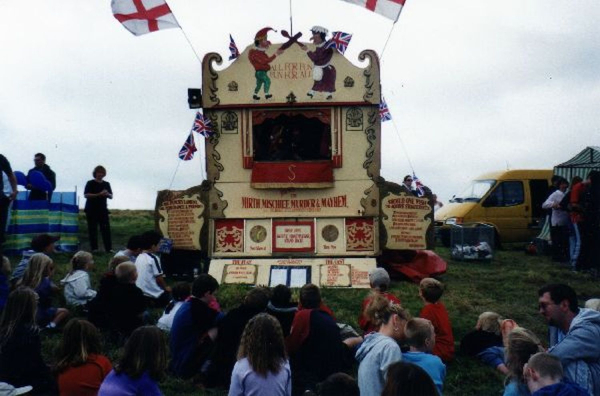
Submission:
POLYGON ((425 303, 419 316, 428 319, 435 329, 435 346, 433 354, 439 356, 444 362, 454 358, 454 335, 450 317, 440 298, 444 294, 442 282, 433 278, 424 278, 419 284, 419 297, 425 303))

